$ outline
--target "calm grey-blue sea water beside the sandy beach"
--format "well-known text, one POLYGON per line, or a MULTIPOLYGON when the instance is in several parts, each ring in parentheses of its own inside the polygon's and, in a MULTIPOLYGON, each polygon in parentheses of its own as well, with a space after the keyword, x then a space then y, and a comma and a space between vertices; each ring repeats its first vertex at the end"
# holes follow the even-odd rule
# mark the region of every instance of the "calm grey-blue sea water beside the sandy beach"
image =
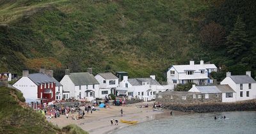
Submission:
POLYGON ((113 131, 122 133, 256 133, 256 111, 172 115, 113 131), (227 119, 214 119, 225 115, 227 119))

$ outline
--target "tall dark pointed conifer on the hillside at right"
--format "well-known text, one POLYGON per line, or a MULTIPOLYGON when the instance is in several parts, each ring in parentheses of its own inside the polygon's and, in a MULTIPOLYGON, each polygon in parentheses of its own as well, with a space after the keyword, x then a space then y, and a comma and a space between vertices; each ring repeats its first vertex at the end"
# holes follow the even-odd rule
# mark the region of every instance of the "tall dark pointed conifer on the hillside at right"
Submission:
POLYGON ((248 34, 245 31, 245 24, 238 15, 234 30, 227 36, 227 52, 230 57, 236 58, 249 50, 251 41, 248 40, 248 34))

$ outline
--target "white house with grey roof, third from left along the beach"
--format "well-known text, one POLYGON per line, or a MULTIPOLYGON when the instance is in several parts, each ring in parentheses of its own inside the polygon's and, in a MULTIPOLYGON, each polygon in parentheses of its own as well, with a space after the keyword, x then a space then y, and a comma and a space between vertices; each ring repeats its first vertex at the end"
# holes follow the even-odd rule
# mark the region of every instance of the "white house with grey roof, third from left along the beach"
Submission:
POLYGON ((108 94, 115 94, 116 87, 118 87, 118 77, 113 73, 98 73, 95 76, 99 82, 99 98, 104 98, 108 94))

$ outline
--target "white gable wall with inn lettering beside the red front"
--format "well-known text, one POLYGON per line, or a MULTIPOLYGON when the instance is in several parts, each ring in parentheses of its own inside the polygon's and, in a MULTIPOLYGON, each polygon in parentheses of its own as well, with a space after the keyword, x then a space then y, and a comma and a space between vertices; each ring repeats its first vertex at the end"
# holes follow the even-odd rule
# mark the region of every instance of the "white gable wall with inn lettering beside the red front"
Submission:
POLYGON ((21 77, 13 84, 13 87, 19 89, 23 93, 24 98, 37 99, 38 87, 28 77, 21 77))

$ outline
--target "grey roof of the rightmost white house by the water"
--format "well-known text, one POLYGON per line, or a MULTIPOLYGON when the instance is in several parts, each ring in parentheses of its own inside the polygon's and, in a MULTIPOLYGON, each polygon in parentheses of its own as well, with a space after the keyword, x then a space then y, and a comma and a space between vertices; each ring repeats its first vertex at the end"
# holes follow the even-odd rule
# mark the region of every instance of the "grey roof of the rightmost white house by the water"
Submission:
POLYGON ((232 75, 230 78, 236 83, 236 84, 250 84, 250 83, 256 83, 255 80, 252 77, 249 77, 248 75, 232 75))

